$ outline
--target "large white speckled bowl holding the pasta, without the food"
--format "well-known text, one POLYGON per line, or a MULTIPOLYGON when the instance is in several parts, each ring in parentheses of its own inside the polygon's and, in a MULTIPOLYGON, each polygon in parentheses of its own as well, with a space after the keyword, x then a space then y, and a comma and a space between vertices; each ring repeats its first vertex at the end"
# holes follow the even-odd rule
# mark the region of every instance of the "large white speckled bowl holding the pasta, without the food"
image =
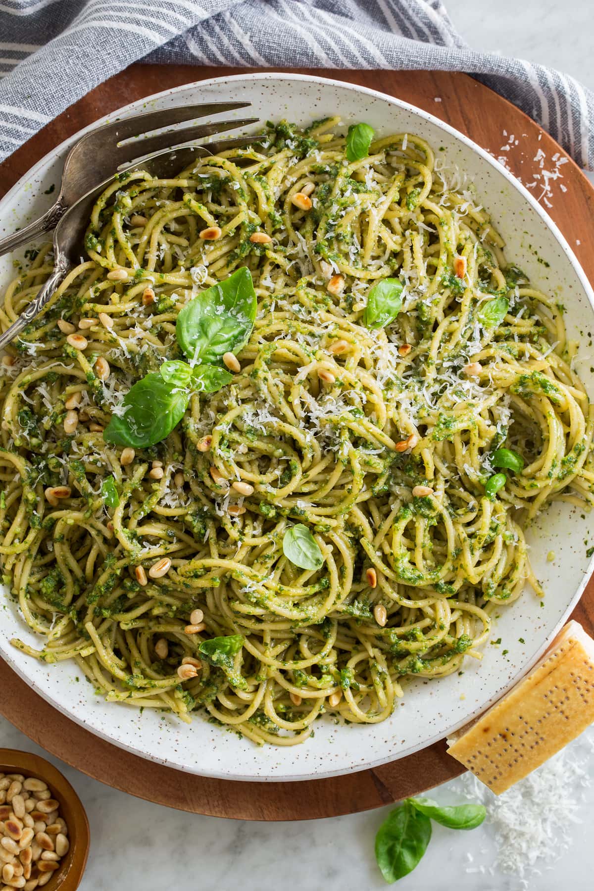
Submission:
MULTIPOLYGON (((517 260, 542 290, 554 293, 566 305, 571 337, 594 323, 594 294, 574 254, 557 226, 490 155, 425 111, 391 96, 337 81, 287 74, 240 74, 177 87, 151 99, 134 102, 118 112, 166 108, 179 102, 246 99, 261 119, 308 123, 340 112, 345 123, 365 120, 379 133, 418 133, 434 146, 444 146, 448 164, 467 171, 485 207, 508 243, 508 256, 517 260), (530 249, 528 248, 530 245, 530 249), (549 267, 537 262, 546 257, 549 267)), ((244 111, 235 112, 236 115, 244 111)), ((105 119, 102 119, 105 120, 105 119)), ((98 121, 97 123, 102 123, 98 121)), ((85 131, 81 131, 84 133, 85 131)), ((80 135, 80 134, 78 134, 80 135)), ((40 214, 48 205, 45 190, 58 183, 69 145, 62 143, 40 160, 0 202, 0 234, 12 232, 40 214)), ((0 284, 12 277, 12 259, 0 260, 0 284)), ((594 396, 590 362, 580 366, 594 396)), ((362 770, 424 748, 468 722, 498 699, 525 674, 557 632, 578 601, 591 570, 583 540, 591 531, 590 519, 567 504, 553 506, 529 535, 531 560, 548 596, 544 603, 532 592, 509 609, 502 609, 495 637, 500 646, 487 645, 481 664, 467 659, 463 676, 412 683, 395 714, 380 724, 338 726, 317 723, 313 739, 290 748, 256 748, 230 732, 197 716, 191 726, 146 709, 106 703, 94 695, 84 679, 77 681, 77 666, 47 666, 28 658, 9 643, 18 635, 38 646, 6 594, 0 652, 21 677, 74 721, 116 745, 162 764, 207 776, 232 780, 305 780, 362 770), (553 550, 557 559, 547 562, 553 550), (503 650, 508 650, 503 655, 503 650)))

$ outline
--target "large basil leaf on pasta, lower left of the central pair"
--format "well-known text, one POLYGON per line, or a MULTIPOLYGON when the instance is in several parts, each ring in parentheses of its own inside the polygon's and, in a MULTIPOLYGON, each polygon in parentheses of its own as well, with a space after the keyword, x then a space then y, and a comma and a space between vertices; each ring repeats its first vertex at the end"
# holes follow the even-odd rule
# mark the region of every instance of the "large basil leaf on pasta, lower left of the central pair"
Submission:
POLYGON ((158 373, 147 374, 128 390, 122 413, 111 416, 103 439, 116 446, 154 446, 182 420, 189 401, 189 389, 167 383, 158 373))

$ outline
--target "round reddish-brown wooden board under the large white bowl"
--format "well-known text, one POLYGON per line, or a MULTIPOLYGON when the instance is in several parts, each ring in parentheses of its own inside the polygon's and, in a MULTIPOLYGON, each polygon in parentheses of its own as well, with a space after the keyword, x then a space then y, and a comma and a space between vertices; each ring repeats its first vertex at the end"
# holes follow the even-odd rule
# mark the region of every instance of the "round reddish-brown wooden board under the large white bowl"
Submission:
MULTIPOLYGON (((4 161, 0 165, 0 194, 53 146, 102 115, 168 87, 236 73, 236 69, 228 68, 132 65, 76 102, 4 161)), ((339 70, 310 73, 370 86, 430 111, 495 157, 504 158, 512 173, 526 185, 533 184, 536 198, 542 192, 541 180, 534 176, 541 169, 536 157, 539 150, 546 157, 544 168, 548 170, 555 168, 551 159, 557 152, 565 156, 533 120, 464 74, 339 70)), ((594 189, 573 161, 559 169, 563 179, 552 183, 551 193, 544 196, 543 203, 594 283, 594 189)), ((496 212, 496 208, 493 210, 496 212)), ((573 617, 594 634, 594 580, 590 580, 573 617)), ((99 739, 29 690, 1 659, 0 712, 31 740, 97 780, 162 805, 218 817, 305 820, 355 813, 417 795, 463 772, 462 766, 446 754, 445 743, 440 742, 392 764, 326 780, 210 780, 144 760, 99 739)))

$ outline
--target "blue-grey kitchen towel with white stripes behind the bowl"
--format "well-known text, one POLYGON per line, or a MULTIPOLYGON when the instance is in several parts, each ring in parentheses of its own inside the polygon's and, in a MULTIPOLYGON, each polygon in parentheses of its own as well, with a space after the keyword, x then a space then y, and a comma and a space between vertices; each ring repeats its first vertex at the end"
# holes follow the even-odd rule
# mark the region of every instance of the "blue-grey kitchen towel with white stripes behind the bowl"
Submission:
POLYGON ((472 50, 440 0, 0 0, 0 159, 141 59, 467 71, 594 168, 594 94, 543 65, 472 50))

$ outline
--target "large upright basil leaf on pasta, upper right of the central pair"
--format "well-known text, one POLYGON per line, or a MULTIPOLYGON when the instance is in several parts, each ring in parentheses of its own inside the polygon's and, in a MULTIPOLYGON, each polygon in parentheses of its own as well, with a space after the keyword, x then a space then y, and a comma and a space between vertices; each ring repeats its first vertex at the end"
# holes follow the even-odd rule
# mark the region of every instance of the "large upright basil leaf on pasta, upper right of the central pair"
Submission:
POLYGON ((177 316, 175 335, 194 362, 219 364, 225 353, 237 353, 256 319, 256 291, 246 266, 203 290, 177 316))

